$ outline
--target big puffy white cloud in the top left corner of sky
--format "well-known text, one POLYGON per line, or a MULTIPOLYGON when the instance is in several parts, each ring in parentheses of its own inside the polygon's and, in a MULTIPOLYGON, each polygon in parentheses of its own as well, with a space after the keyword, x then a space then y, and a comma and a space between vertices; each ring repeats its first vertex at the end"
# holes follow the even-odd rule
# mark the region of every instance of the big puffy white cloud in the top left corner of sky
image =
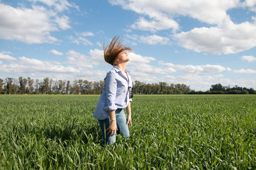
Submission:
MULTIPOLYGON (((34 1, 35 2, 35 1, 34 1)), ((72 5, 67 1, 42 1, 49 4, 60 4, 56 8, 67 10, 72 5)), ((31 8, 23 6, 13 8, 0 2, 0 38, 18 40, 24 43, 54 43, 60 41, 51 36, 52 31, 71 28, 68 17, 58 16, 58 12, 44 6, 32 5, 31 8), (56 26, 58 25, 58 27, 56 26), (60 29, 59 29, 60 28, 60 29)))

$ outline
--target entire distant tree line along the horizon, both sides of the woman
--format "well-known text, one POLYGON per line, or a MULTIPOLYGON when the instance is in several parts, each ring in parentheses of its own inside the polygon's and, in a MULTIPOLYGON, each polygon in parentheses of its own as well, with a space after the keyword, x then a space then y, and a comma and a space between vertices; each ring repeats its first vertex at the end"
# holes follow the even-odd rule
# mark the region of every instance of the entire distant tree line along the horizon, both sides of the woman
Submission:
MULTIPOLYGON (((0 78, 0 94, 101 94, 104 81, 88 80, 33 80, 30 77, 0 78)), ((132 82, 133 94, 256 94, 252 88, 223 86, 220 83, 211 85, 207 91, 191 90, 183 83, 144 83, 132 82)))

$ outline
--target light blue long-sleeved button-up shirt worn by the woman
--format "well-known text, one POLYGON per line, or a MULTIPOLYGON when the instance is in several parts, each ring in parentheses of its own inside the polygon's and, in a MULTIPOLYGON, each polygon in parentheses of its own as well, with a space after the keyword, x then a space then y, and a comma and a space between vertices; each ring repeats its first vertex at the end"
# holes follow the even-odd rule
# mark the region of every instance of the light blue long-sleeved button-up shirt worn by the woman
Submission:
POLYGON ((122 71, 113 66, 104 78, 102 94, 93 113, 93 117, 99 120, 108 118, 108 111, 118 108, 126 108, 132 99, 129 99, 128 87, 132 87, 131 73, 127 70, 129 81, 122 71))

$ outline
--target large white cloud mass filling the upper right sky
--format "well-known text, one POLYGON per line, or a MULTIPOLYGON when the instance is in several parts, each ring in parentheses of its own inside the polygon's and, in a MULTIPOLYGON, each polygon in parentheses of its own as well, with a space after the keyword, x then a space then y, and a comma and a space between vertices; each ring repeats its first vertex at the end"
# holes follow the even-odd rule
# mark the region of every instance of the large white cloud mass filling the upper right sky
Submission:
MULTIPOLYGON (((239 0, 191 0, 186 1, 186 4, 184 1, 164 0, 109 0, 109 2, 141 15, 132 24, 133 29, 153 32, 173 29, 173 38, 179 45, 189 50, 195 50, 195 52, 229 54, 242 52, 256 46, 255 22, 234 24, 227 14, 227 11, 232 8, 249 7, 254 11, 256 4, 253 0, 243 2, 239 0), (196 27, 191 31, 177 33, 179 24, 176 20, 179 20, 179 16, 195 18, 202 23, 210 24, 211 27, 196 27), (145 17, 150 19, 147 20, 145 17)), ((147 41, 145 38, 141 37, 140 42, 149 44, 157 42, 147 41)))

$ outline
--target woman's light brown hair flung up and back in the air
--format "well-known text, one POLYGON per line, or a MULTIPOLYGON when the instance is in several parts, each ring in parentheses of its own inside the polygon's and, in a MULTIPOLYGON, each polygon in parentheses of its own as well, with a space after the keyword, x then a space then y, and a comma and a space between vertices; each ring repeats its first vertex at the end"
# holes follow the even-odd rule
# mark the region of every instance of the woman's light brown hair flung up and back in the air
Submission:
POLYGON ((122 39, 120 39, 120 36, 115 36, 106 48, 105 43, 103 43, 104 59, 112 66, 114 65, 118 55, 125 50, 133 51, 131 47, 122 45, 122 39))

